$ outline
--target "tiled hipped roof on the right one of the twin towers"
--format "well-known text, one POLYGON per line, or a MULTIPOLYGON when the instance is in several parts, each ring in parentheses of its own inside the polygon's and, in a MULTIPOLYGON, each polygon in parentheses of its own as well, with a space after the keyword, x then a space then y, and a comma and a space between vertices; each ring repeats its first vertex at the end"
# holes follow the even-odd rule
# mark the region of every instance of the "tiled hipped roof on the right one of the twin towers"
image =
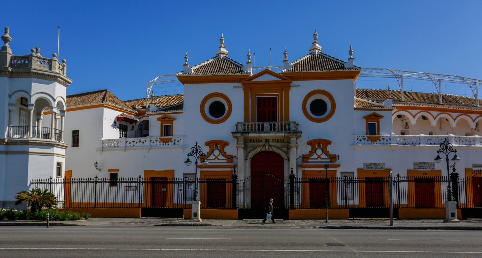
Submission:
POLYGON ((360 70, 358 66, 345 68, 345 62, 324 53, 309 53, 291 63, 292 68, 283 72, 360 70))

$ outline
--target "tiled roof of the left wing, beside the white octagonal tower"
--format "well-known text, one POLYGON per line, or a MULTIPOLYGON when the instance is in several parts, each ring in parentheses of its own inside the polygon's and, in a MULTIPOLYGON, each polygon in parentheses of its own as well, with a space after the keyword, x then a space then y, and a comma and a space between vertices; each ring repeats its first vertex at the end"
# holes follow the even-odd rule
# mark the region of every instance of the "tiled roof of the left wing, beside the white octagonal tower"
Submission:
POLYGON ((67 107, 85 106, 92 104, 109 104, 127 111, 135 112, 128 105, 123 103, 109 90, 95 90, 67 96, 67 107))

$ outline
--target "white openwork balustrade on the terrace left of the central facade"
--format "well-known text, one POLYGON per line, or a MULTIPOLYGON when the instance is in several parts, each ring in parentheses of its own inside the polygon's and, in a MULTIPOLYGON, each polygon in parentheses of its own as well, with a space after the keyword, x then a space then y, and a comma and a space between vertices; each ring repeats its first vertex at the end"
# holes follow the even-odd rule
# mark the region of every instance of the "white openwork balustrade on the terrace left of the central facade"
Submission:
POLYGON ((181 145, 182 137, 142 137, 100 140, 101 149, 150 148, 181 145))

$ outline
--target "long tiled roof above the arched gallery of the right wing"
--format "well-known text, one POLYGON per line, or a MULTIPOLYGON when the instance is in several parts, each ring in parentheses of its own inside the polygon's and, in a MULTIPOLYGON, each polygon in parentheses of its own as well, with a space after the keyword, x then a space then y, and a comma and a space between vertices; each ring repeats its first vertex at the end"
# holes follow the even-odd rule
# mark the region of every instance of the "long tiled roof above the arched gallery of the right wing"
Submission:
MULTIPOLYGON (((402 94, 400 90, 392 90, 393 105, 426 105, 482 109, 482 107, 475 106, 475 98, 458 95, 442 94, 443 104, 439 103, 439 95, 437 93, 404 91, 403 96, 404 101, 402 102, 402 94)), ((357 97, 375 101, 384 101, 387 99, 388 93, 387 90, 357 89, 357 97)), ((481 101, 482 100, 479 100, 479 102, 481 101)))

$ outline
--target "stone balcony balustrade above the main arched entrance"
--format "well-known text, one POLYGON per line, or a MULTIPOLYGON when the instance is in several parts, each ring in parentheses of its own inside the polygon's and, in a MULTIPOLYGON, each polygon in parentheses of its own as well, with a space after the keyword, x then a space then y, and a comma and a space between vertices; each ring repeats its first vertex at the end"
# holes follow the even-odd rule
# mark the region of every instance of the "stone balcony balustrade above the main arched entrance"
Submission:
POLYGON ((236 132, 289 132, 297 130, 298 124, 294 121, 236 123, 236 132))

